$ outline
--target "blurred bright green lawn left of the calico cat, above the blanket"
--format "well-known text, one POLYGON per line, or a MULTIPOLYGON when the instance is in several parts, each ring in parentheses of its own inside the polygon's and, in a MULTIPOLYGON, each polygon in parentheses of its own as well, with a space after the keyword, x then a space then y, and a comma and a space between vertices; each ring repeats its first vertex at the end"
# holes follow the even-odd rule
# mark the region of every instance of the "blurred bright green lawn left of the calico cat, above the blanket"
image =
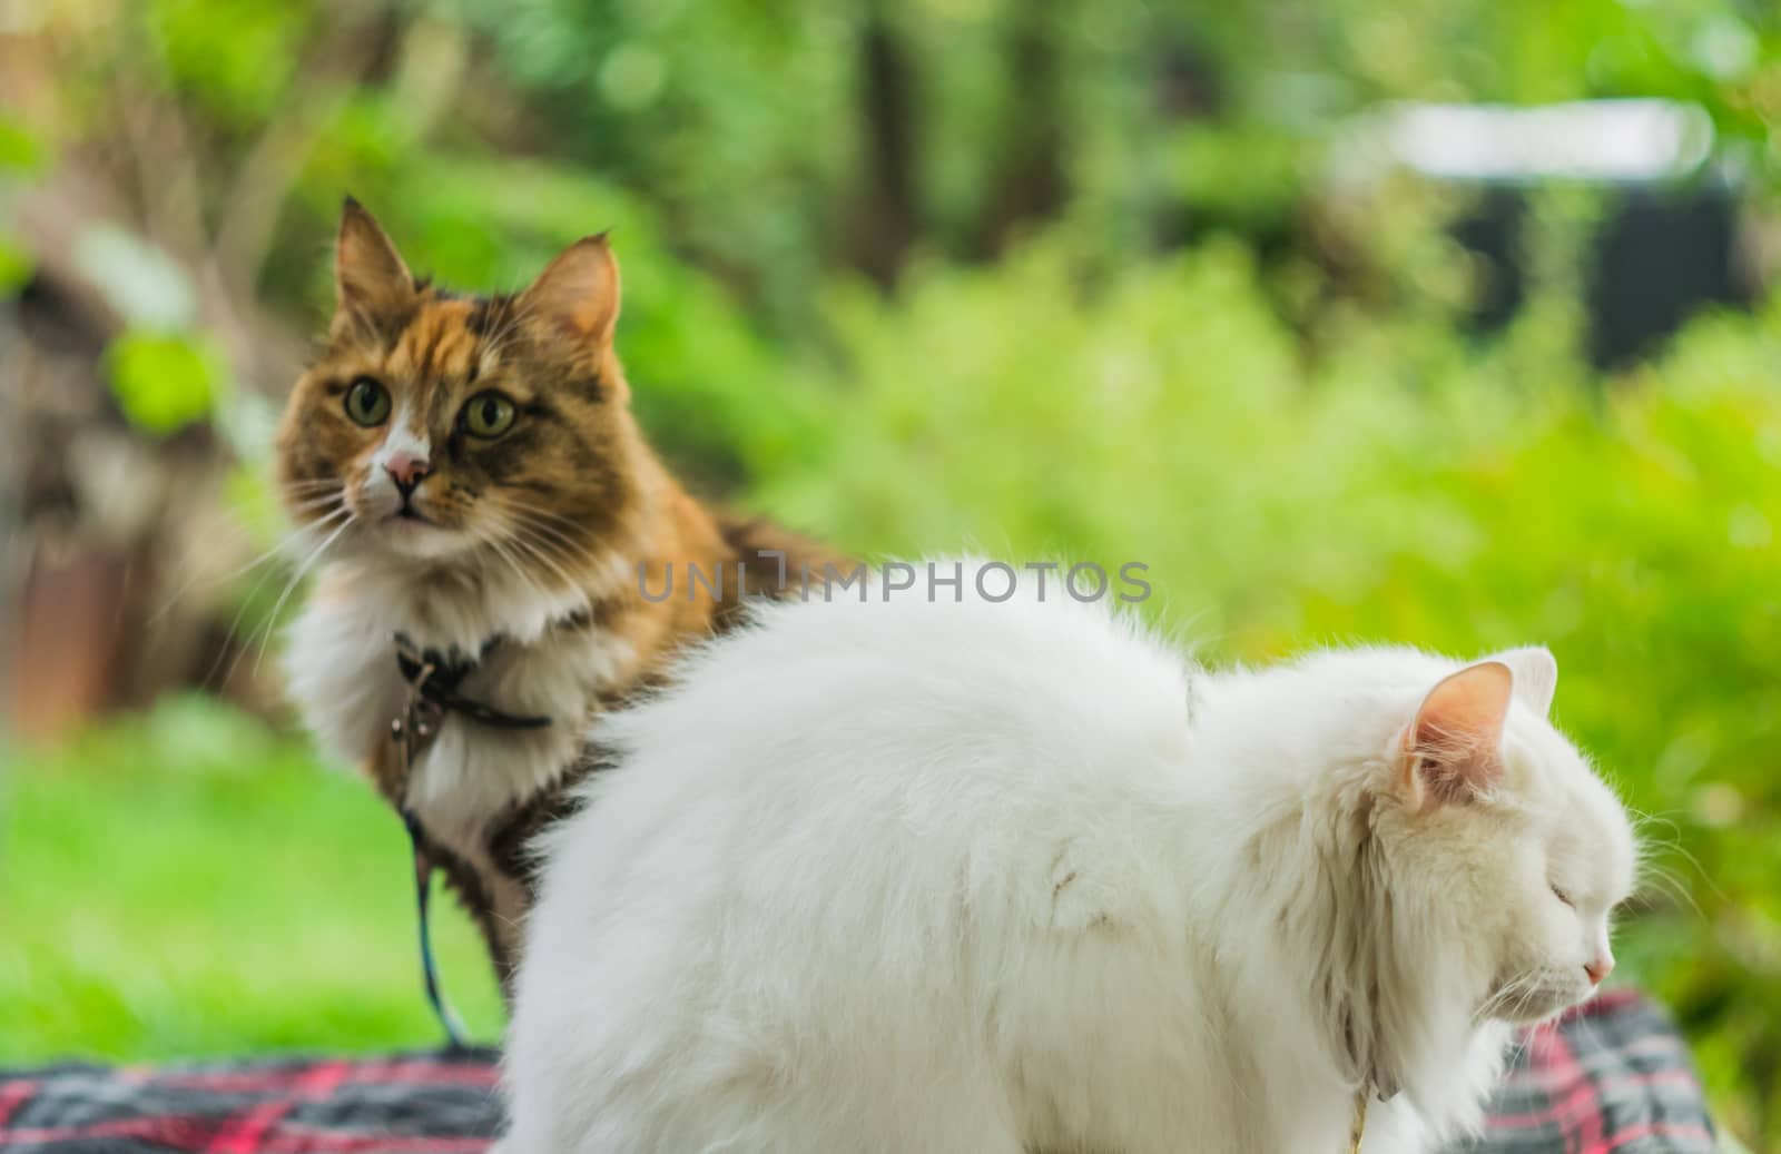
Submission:
MULTIPOLYGON (((203 700, 7 762, 0 1063, 438 1042, 408 841, 363 782, 203 700)), ((436 906, 445 983, 493 1040, 479 939, 436 906)))

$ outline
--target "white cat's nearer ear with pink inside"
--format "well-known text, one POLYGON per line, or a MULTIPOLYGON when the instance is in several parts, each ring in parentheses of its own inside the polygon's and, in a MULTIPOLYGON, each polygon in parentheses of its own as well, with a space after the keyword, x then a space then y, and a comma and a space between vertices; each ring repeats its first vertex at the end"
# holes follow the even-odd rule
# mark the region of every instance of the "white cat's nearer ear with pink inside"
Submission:
POLYGON ((1516 675, 1480 661, 1441 679, 1403 730, 1400 785, 1412 809, 1469 801, 1503 773, 1503 721, 1516 675))

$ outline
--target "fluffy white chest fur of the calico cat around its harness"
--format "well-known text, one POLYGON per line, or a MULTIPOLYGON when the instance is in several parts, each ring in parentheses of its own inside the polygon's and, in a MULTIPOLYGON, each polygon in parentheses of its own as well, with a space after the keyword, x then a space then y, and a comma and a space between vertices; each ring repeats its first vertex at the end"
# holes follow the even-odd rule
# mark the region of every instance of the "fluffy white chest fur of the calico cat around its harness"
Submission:
POLYGON ((484 873, 490 821, 565 771, 597 698, 632 675, 629 643, 577 620, 582 609, 582 595, 415 586, 342 568, 324 575, 290 630, 290 695, 333 755, 376 762, 408 700, 395 657, 403 634, 417 648, 474 662, 458 686, 461 696, 549 718, 540 728, 500 728, 447 712, 410 766, 401 803, 429 837, 484 873))

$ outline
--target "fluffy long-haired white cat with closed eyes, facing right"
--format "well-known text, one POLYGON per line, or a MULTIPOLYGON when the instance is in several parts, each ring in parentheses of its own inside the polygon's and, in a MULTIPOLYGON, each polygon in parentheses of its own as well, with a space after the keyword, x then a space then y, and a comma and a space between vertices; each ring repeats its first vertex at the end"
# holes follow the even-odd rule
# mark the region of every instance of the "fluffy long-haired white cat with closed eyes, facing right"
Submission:
POLYGON ((1555 680, 1204 671, 1056 591, 766 609, 547 835, 502 1150, 1339 1154, 1362 1086, 1427 1150, 1614 965, 1633 835, 1555 680))

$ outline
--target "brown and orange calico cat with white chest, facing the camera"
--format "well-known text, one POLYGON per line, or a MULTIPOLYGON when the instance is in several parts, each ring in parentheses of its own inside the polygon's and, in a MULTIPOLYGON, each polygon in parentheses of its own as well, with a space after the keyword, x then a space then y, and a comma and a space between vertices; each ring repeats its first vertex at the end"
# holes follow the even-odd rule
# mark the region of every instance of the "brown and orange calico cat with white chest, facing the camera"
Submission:
POLYGON ((645 443, 604 237, 524 292, 459 296, 415 280, 347 199, 335 281, 326 347, 278 429, 278 492, 319 568, 289 689, 417 826, 506 985, 524 844, 591 764, 590 718, 828 554, 702 508, 645 443))

